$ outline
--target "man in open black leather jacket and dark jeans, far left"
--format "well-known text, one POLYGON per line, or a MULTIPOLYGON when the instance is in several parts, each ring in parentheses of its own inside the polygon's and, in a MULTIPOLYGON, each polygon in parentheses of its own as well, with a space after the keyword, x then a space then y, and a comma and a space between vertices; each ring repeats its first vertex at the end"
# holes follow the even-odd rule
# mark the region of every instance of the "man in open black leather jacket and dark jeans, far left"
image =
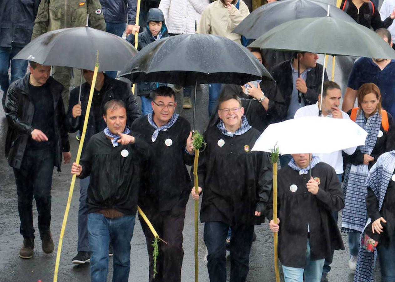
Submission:
POLYGON ((33 196, 45 253, 53 252, 50 231, 53 168, 71 159, 65 126, 62 85, 49 76, 51 66, 30 62, 30 73, 11 83, 6 97, 6 157, 14 170, 23 246, 19 257, 34 250, 33 196))

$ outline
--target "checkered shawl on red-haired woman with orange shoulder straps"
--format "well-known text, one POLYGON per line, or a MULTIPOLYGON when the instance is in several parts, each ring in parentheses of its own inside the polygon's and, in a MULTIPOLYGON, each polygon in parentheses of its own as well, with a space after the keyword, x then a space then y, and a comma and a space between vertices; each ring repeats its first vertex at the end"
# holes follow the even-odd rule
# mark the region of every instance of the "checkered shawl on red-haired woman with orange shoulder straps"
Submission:
MULTIPOLYGON (((368 132, 365 145, 358 146, 358 149, 365 154, 370 154, 376 144, 377 134, 381 126, 381 115, 378 111, 365 121, 363 111, 359 111, 355 123, 368 132)), ((343 192, 344 209, 342 213, 342 231, 362 232, 366 223, 365 198, 367 190, 365 181, 368 177, 369 169, 367 165, 352 165, 348 163, 344 171, 343 192)))

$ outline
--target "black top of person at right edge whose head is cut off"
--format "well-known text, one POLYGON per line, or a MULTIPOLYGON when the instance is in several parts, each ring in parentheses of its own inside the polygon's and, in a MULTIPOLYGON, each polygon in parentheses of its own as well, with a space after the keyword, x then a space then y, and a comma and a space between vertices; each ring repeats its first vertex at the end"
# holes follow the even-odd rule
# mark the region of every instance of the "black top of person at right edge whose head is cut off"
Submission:
MULTIPOLYGON (((395 174, 395 170, 392 175, 395 174)), ((381 233, 379 244, 388 246, 395 231, 395 181, 389 180, 386 195, 381 206, 378 210, 378 199, 374 195, 372 188, 367 187, 368 193, 366 195, 366 210, 372 222, 383 217, 387 223, 384 232, 381 233)), ((382 223, 383 225, 383 223, 382 223)))

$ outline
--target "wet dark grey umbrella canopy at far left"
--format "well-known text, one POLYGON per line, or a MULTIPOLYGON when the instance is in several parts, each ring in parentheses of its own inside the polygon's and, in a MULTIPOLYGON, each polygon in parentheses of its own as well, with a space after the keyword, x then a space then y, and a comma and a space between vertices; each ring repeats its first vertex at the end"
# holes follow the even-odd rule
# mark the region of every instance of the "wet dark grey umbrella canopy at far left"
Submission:
POLYGON ((122 70, 137 53, 132 44, 121 37, 83 26, 46 32, 27 44, 13 59, 94 70, 97 51, 100 71, 122 70))

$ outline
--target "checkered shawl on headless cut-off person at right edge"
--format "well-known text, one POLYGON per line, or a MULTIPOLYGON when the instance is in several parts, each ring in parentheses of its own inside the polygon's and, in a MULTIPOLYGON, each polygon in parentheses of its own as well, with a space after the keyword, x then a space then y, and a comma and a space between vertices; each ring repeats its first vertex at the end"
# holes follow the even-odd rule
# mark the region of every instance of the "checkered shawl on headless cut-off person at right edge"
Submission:
MULTIPOLYGON (((382 154, 369 172, 365 187, 370 187, 378 199, 378 210, 381 210, 384 196, 386 195, 389 180, 395 169, 395 151, 382 154)), ((371 222, 369 218, 366 225, 371 222)), ((377 251, 369 253, 359 247, 357 268, 355 269, 354 282, 372 282, 374 277, 374 263, 377 251)))

